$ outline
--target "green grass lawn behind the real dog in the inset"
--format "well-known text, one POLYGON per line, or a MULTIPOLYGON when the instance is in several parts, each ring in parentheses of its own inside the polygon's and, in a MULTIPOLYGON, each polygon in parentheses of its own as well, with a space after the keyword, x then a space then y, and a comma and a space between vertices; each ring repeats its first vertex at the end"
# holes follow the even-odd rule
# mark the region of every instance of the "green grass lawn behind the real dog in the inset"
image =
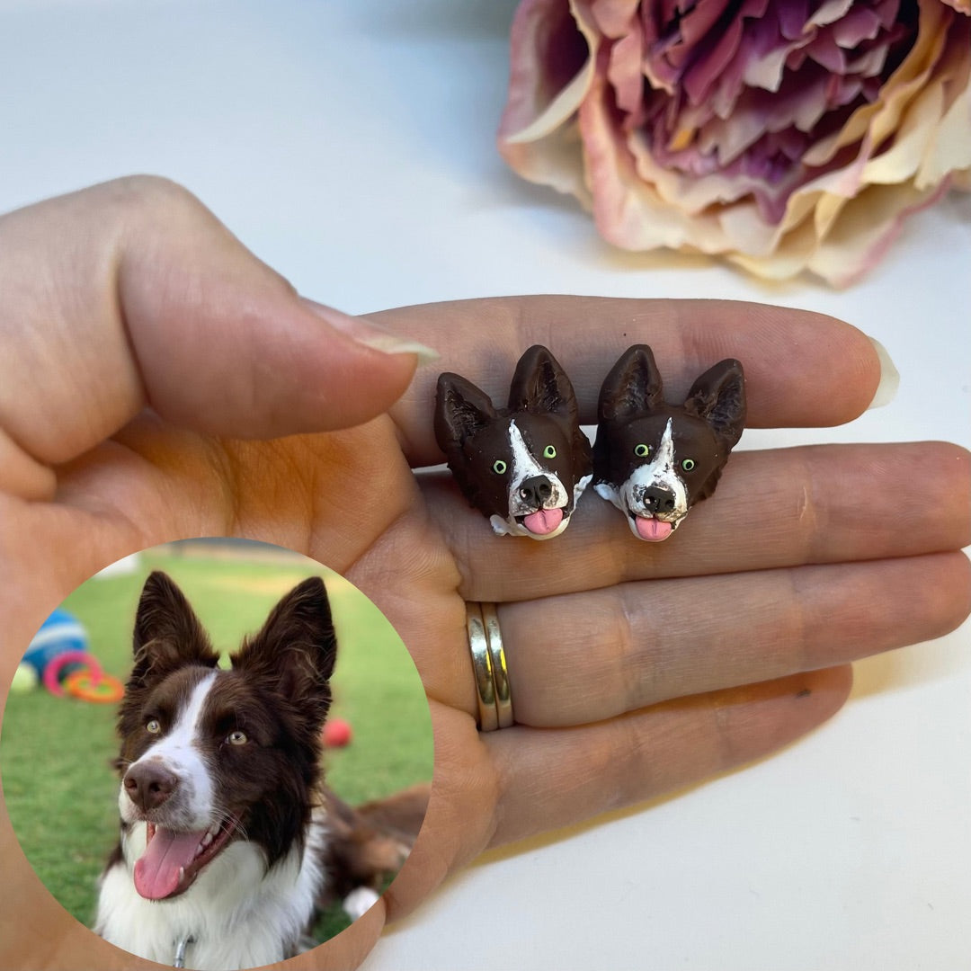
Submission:
MULTIPOLYGON (((324 753, 327 783, 351 803, 431 779, 428 705, 394 629, 351 584, 302 557, 226 552, 197 544, 143 553, 135 574, 95 578, 64 601, 84 624, 90 653, 125 680, 138 597, 152 569, 182 587, 217 650, 239 647, 274 604, 308 576, 324 578, 338 634, 331 715, 352 742, 324 753)), ((272 548, 270 548, 272 549, 272 548)), ((4 794, 24 853, 45 886, 79 921, 94 917, 96 880, 117 842, 115 706, 57 698, 44 688, 12 694, 0 740, 4 794)), ((347 926, 324 915, 320 940, 347 926)))

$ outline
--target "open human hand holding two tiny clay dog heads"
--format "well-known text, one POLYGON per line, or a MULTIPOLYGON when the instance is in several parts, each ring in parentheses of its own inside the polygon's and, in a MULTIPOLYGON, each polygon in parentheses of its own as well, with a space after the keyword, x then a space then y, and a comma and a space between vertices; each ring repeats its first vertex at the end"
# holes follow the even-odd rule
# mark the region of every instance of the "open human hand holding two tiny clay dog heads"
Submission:
MULTIPOLYGON (((488 846, 778 749, 843 703, 847 662, 968 612, 969 461, 954 446, 736 452, 715 498, 659 547, 589 493, 551 543, 497 538, 448 476, 412 471, 442 460, 438 371, 501 396, 536 342, 567 370, 587 423, 603 376, 637 342, 652 345, 672 395, 714 360, 740 358, 750 426, 853 419, 880 366, 830 318, 564 297, 369 318, 441 352, 409 386, 414 354, 331 330, 328 319, 353 321, 311 312, 171 184, 108 184, 12 214, 0 253, 5 687, 71 589, 125 553, 200 535, 326 563, 415 657, 436 744, 419 842, 371 911, 287 966, 356 966, 385 920, 488 846), (904 504, 893 470, 915 463, 925 494, 904 504), (476 728, 467 600, 500 604, 512 728, 476 728)), ((53 905, 6 815, 0 842, 0 963, 143 966, 53 905)))

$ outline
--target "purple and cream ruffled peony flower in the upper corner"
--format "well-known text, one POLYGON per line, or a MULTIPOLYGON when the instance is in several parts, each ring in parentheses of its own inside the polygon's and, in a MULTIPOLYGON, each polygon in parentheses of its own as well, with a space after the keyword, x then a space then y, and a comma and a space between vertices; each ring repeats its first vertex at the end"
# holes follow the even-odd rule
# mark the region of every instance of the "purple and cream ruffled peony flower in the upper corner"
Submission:
POLYGON ((971 188, 971 0, 523 0, 499 148, 623 249, 847 285, 971 188))

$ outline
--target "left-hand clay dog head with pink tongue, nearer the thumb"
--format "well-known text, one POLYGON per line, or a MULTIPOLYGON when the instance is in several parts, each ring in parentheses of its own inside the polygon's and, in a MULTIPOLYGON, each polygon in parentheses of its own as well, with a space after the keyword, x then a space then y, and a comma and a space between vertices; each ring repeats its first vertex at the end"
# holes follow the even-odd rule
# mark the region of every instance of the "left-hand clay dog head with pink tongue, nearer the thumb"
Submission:
POLYGON ((573 385, 539 345, 519 358, 508 408, 457 374, 440 375, 435 439, 462 493, 499 535, 558 536, 590 481, 573 385))

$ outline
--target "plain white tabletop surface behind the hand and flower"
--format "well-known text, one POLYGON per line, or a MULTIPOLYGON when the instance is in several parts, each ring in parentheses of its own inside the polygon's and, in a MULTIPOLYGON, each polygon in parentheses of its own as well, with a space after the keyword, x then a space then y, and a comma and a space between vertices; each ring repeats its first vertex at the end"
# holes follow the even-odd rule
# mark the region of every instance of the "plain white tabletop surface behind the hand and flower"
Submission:
MULTIPOLYGON (((166 175, 353 313, 515 292, 822 311, 886 345, 895 401, 749 447, 971 446, 971 197, 912 219, 844 292, 612 251, 496 154, 514 6, 0 0, 0 211, 166 175)), ((859 663, 847 707, 785 753, 488 854, 386 932, 367 971, 971 968, 969 649, 965 624, 859 663)))

